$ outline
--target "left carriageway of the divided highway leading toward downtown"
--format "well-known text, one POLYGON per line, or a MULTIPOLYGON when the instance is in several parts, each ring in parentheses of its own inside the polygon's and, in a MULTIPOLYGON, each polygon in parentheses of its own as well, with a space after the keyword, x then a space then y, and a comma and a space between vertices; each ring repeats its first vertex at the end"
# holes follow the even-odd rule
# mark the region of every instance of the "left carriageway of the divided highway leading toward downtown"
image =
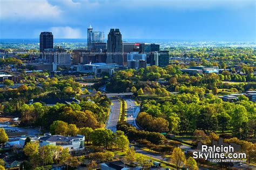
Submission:
POLYGON ((113 105, 111 105, 109 120, 107 121, 105 128, 111 130, 112 132, 116 132, 120 113, 120 102, 117 99, 112 99, 111 101, 113 105))

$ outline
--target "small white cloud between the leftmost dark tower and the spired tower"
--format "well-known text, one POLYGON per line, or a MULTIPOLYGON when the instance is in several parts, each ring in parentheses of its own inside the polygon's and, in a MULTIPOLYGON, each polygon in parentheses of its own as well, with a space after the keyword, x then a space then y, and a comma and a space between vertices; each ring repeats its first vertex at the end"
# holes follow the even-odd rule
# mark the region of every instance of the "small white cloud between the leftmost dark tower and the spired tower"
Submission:
POLYGON ((80 30, 69 26, 54 26, 50 30, 55 38, 81 38, 80 30))

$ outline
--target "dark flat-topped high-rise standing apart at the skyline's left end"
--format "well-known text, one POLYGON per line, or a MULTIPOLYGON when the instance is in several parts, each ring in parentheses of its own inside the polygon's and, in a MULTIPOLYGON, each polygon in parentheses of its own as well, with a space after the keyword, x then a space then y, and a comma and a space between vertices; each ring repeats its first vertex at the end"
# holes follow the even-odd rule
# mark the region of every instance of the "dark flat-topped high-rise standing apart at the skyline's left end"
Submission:
POLYGON ((40 52, 44 49, 53 49, 53 35, 51 32, 41 32, 40 34, 40 52))

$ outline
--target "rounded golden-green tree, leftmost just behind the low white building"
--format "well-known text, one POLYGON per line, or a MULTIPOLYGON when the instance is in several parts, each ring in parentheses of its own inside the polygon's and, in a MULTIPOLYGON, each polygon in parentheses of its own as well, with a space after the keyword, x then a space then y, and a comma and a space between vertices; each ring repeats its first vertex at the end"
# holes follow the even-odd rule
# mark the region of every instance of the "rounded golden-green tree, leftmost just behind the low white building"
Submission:
POLYGON ((68 124, 61 120, 53 121, 50 126, 50 132, 52 134, 65 135, 68 131, 68 124))

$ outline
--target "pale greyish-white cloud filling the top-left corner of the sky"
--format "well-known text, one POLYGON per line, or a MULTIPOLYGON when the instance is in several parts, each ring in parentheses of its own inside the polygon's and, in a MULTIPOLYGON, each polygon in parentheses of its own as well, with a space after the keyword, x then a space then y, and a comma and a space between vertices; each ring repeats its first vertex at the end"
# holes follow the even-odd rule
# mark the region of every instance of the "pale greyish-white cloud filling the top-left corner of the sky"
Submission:
POLYGON ((46 0, 1 0, 0 18, 56 18, 62 12, 46 0))

